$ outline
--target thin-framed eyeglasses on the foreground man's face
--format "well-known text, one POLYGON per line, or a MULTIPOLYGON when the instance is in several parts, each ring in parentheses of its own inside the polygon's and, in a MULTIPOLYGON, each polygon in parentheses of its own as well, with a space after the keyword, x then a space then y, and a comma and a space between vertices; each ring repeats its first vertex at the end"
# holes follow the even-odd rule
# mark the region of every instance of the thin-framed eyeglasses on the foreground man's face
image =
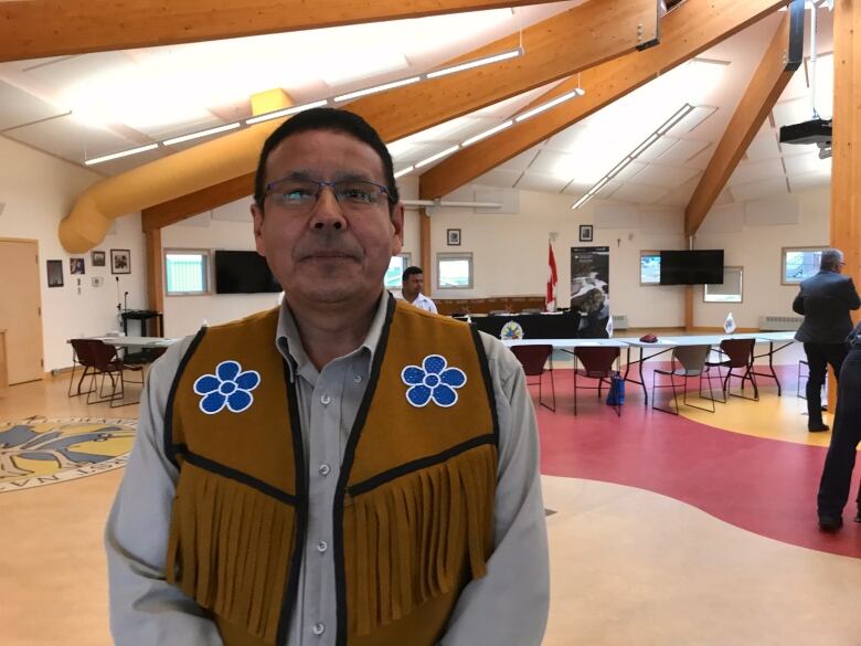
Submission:
POLYGON ((366 211, 382 202, 393 202, 389 189, 364 180, 343 180, 336 182, 283 179, 266 184, 264 195, 270 197, 276 204, 290 211, 310 211, 320 199, 323 187, 329 187, 334 199, 347 211, 366 211))

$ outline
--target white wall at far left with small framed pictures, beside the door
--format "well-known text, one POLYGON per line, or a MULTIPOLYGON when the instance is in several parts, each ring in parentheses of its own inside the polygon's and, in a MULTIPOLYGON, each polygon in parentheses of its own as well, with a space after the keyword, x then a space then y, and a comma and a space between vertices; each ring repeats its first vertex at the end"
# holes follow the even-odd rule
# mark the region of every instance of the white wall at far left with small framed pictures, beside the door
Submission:
POLYGON ((72 350, 66 339, 118 329, 117 303, 123 301, 125 292, 129 293, 130 308, 147 306, 140 215, 116 221, 114 233, 96 247, 106 252, 107 264, 93 267, 89 252, 68 254, 63 250, 57 226, 81 191, 100 176, 4 137, 0 137, 0 202, 6 203, 0 215, 0 237, 39 241, 45 370, 71 366, 72 350), (118 276, 119 283, 110 274, 111 248, 131 251, 131 273, 118 276), (70 274, 70 257, 85 258, 83 276, 70 274), (46 260, 63 261, 63 287, 47 288, 46 260), (92 285, 94 276, 103 278, 102 287, 92 285))

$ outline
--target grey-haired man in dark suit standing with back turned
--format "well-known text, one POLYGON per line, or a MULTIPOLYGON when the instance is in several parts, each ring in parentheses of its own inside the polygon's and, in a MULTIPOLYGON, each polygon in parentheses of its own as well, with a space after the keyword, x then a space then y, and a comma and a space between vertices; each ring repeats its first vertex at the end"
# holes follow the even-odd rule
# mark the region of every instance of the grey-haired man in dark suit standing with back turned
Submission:
POLYGON ((807 380, 807 428, 811 432, 828 431, 822 423, 820 391, 828 364, 840 375, 840 367, 847 356, 846 338, 852 331, 849 310, 861 307, 852 278, 841 276, 843 253, 836 248, 822 252, 819 273, 801 283, 801 290, 793 301, 793 310, 805 317, 795 335, 805 345, 810 375, 807 380))

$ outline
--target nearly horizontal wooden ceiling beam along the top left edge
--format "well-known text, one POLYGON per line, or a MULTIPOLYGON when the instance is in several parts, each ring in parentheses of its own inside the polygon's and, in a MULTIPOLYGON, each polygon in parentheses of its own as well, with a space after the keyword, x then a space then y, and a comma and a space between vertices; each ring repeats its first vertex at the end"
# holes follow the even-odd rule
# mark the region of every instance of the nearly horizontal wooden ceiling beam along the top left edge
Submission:
POLYGON ((0 2, 0 62, 423 18, 555 0, 28 0, 0 2))

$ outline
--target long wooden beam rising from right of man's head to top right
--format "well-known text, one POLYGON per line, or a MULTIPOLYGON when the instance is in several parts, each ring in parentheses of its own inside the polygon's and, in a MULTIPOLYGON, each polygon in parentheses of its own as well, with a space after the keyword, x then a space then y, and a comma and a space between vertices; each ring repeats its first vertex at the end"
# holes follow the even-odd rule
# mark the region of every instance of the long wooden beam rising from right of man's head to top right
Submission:
MULTIPOLYGON (((539 116, 514 124, 436 165, 421 176, 421 199, 440 198, 469 183, 658 75, 742 31, 785 3, 786 0, 683 2, 661 19, 660 45, 631 52, 583 71, 581 82, 586 91, 585 96, 567 100, 539 116)), ((534 103, 545 103, 575 87, 577 78, 570 78, 534 103)), ((608 133, 607 136, 612 134, 608 133)))

